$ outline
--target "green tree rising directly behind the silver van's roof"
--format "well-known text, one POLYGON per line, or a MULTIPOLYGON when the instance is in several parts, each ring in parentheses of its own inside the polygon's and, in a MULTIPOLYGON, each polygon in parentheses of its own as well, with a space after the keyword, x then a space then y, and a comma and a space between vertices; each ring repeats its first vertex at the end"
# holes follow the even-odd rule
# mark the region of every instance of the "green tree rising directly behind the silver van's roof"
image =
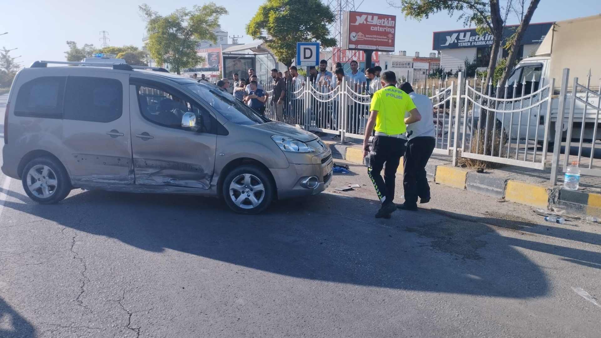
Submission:
POLYGON ((167 16, 160 16, 147 4, 139 6, 142 17, 147 20, 147 48, 150 56, 159 64, 169 64, 171 70, 180 73, 183 68, 197 66, 203 58, 197 54, 200 40, 216 43, 213 30, 218 28, 219 19, 227 14, 225 7, 209 2, 195 5, 192 10, 179 8, 167 16))

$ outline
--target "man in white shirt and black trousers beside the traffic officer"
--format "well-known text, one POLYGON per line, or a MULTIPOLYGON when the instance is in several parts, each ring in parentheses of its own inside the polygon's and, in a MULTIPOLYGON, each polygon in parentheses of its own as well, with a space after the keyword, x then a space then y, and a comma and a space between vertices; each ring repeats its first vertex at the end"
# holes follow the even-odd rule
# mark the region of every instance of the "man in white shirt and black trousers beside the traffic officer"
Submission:
MULTIPOLYGON (((426 178, 426 164, 436 146, 434 108, 432 100, 426 95, 415 93, 409 82, 403 82, 398 88, 409 94, 413 104, 421 114, 421 120, 407 125, 407 149, 403 156, 403 188, 405 201, 398 209, 417 210, 419 203, 430 201, 430 186, 426 178)), ((406 115, 408 117, 409 115, 406 115)))

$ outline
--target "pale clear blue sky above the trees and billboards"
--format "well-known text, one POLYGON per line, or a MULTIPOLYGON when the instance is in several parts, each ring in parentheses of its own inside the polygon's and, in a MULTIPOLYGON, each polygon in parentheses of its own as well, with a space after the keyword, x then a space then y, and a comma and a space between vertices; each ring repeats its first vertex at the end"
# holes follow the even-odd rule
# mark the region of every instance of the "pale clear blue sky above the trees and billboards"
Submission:
MULTIPOLYGON (((93 43, 100 45, 99 31, 109 32, 111 45, 142 46, 145 23, 139 16, 138 5, 144 1, 132 0, 0 0, 0 46, 8 49, 13 57, 22 55, 16 61, 29 66, 35 60, 64 61, 66 41, 73 40, 78 45, 93 43)), ((356 4, 361 1, 355 0, 356 4)), ((161 14, 171 13, 175 8, 192 7, 203 2, 171 0, 147 1, 161 14)), ((224 5, 230 14, 222 17, 222 28, 230 35, 245 35, 240 42, 249 42, 245 25, 254 15, 262 1, 230 0, 216 1, 224 5)), ((397 51, 407 51, 413 55, 419 51, 427 55, 432 49, 432 32, 460 29, 462 22, 447 13, 439 13, 428 20, 418 22, 404 19, 400 10, 390 8, 386 0, 365 0, 358 8, 373 13, 395 13, 397 15, 397 51)), ((532 22, 549 22, 590 16, 601 13, 600 0, 543 0, 538 5, 532 22)), ((306 16, 308 13, 299 13, 306 16)), ((509 23, 517 23, 511 20, 509 23)))

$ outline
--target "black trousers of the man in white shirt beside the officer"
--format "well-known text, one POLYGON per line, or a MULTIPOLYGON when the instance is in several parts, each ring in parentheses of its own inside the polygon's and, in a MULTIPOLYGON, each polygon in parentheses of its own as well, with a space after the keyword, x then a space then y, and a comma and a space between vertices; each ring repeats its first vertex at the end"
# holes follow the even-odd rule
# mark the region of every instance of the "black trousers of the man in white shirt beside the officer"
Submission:
POLYGON ((407 142, 403 157, 403 188, 407 206, 417 206, 417 198, 430 198, 426 164, 435 146, 433 137, 416 137, 407 142))

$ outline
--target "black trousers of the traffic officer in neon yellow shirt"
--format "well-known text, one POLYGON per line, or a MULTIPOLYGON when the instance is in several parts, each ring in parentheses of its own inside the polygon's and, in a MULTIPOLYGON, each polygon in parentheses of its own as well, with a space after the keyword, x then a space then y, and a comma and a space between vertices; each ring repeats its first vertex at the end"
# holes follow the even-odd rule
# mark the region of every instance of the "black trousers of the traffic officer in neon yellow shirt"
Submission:
POLYGON ((395 137, 374 136, 373 148, 370 153, 370 166, 367 174, 376 188, 377 197, 382 203, 392 203, 394 200, 394 179, 398 164, 405 153, 407 140, 395 137), (382 179, 382 169, 384 178, 382 179))

